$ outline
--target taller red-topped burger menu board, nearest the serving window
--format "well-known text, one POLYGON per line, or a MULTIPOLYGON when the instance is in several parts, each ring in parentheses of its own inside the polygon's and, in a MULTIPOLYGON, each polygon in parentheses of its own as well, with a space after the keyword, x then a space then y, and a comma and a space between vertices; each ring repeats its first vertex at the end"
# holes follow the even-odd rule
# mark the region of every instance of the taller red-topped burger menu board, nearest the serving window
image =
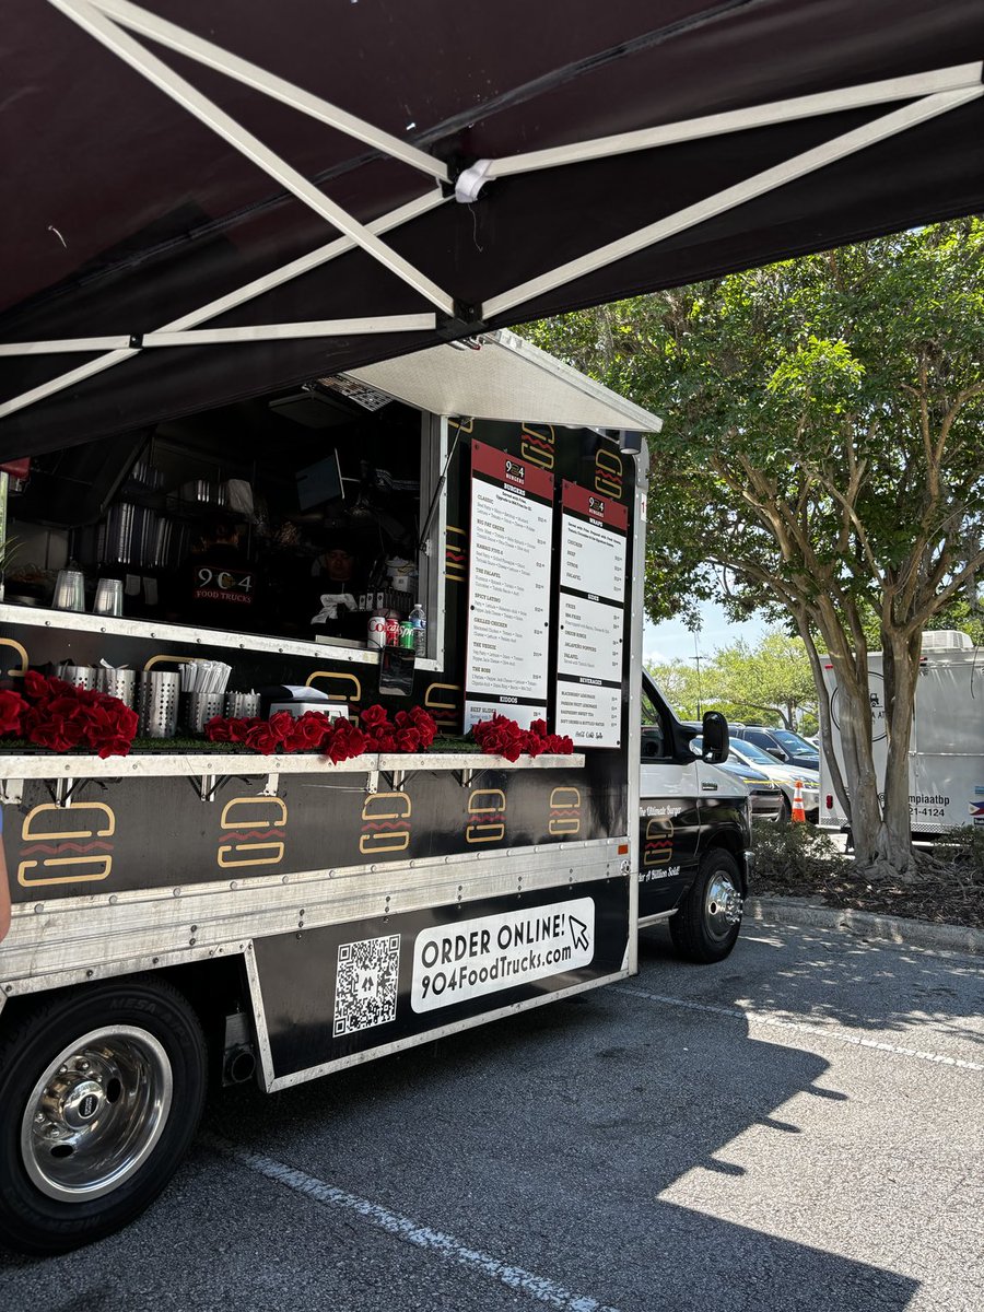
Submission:
POLYGON ((554 475, 472 442, 466 732, 546 719, 552 534, 554 475))

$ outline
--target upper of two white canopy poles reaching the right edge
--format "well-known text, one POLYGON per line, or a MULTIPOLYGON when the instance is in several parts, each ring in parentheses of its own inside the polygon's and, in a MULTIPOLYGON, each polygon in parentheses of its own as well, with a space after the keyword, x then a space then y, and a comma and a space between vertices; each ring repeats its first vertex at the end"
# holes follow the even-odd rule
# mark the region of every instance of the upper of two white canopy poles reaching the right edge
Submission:
POLYGON ((771 127, 794 119, 816 118, 820 114, 837 114, 844 110, 886 105, 892 101, 935 96, 947 91, 963 91, 980 85, 980 77, 981 62, 977 60, 972 64, 913 73, 909 77, 862 83, 840 91, 796 96, 791 100, 771 101, 768 105, 752 105, 748 109, 735 109, 722 114, 705 114, 702 118, 689 118, 680 123, 664 123, 660 127, 644 127, 635 133, 597 136, 593 140, 575 142, 571 146, 510 155, 491 160, 484 176, 487 180, 509 177, 513 173, 530 173, 535 169, 558 168, 563 164, 610 159, 613 155, 648 151, 657 146, 676 146, 680 142, 720 136, 727 133, 743 133, 753 127, 771 127))

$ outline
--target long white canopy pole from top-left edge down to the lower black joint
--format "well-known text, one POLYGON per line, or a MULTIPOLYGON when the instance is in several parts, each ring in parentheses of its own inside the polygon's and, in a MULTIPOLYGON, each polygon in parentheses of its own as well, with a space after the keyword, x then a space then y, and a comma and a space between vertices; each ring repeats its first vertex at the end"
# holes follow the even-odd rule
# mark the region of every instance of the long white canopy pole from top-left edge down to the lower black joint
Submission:
POLYGON ((49 0, 49 4, 54 5, 73 22, 77 22, 91 37, 94 37, 96 41, 112 50, 126 64, 142 73, 159 91, 163 91, 165 96, 169 96, 182 109, 186 109, 199 122, 205 123, 206 127, 210 127, 234 150, 252 160, 257 168, 279 182, 282 188, 307 205, 308 209, 314 210, 327 223, 350 236, 363 251, 378 260, 391 273, 396 274, 398 278, 416 293, 437 306, 438 310, 449 315, 454 314, 453 297, 438 287, 436 282, 432 282, 420 269, 416 269, 384 241, 374 236, 362 223, 353 219, 346 210, 342 210, 324 192, 308 182, 303 173, 291 168, 286 160, 264 146, 258 138, 253 136, 252 133, 248 133, 230 114, 226 114, 218 105, 195 91, 184 77, 178 77, 156 55, 152 55, 114 22, 104 17, 88 0, 49 0))

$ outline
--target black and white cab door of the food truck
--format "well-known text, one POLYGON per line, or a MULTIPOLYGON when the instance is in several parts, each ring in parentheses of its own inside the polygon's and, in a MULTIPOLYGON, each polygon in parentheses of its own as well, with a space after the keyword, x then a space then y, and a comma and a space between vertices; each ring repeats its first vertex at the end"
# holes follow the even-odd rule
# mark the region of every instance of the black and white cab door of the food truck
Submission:
POLYGON ((639 918, 672 911, 697 874, 699 765, 674 741, 673 719, 643 682, 639 778, 639 918))

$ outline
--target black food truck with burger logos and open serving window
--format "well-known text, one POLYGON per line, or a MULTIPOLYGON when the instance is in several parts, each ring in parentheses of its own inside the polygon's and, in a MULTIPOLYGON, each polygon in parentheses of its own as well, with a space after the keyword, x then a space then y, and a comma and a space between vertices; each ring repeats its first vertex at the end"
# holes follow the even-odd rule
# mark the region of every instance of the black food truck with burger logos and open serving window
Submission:
POLYGON ((727 955, 727 726, 695 760, 643 687, 659 426, 497 332, 3 474, 4 1241, 138 1214, 209 1078, 623 979, 660 920, 727 955))

